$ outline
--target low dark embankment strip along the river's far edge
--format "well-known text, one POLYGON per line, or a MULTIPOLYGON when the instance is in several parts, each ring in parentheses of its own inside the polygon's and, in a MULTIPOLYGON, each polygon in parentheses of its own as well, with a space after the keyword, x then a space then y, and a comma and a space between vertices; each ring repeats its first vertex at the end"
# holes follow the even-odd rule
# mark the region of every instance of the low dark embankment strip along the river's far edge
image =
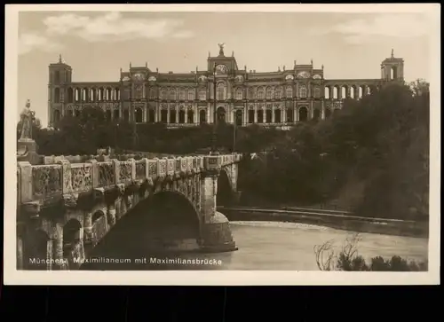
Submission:
POLYGON ((343 231, 368 232, 384 235, 428 238, 428 223, 397 219, 349 216, 332 210, 295 210, 265 208, 218 207, 230 221, 269 221, 314 224, 343 231))

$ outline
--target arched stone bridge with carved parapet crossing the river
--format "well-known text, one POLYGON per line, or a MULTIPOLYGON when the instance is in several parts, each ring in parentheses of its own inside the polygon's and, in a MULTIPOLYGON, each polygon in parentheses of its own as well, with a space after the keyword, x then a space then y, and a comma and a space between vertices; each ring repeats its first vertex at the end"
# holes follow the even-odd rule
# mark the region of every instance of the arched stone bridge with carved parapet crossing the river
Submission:
MULTIPOLYGON (((75 270, 131 249, 232 251, 241 154, 31 165, 19 161, 17 269, 75 270), (101 249, 102 250, 97 250, 101 249), (111 251, 109 251, 111 249, 111 251)), ((122 257, 121 256, 121 257, 122 257)))

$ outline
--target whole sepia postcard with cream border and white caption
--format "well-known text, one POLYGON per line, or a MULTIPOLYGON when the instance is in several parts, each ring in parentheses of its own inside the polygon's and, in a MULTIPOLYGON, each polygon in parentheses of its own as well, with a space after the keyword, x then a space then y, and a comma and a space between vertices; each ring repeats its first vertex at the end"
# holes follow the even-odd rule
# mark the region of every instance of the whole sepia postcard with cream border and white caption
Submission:
POLYGON ((5 284, 439 284, 436 9, 8 5, 5 284))

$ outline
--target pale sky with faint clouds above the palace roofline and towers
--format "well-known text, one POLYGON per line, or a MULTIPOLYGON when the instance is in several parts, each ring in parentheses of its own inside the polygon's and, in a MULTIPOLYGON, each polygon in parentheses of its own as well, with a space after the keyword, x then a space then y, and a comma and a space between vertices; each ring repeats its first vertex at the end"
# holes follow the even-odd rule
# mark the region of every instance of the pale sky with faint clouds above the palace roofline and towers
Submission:
POLYGON ((407 81, 429 79, 429 29, 420 13, 20 12, 19 106, 27 98, 47 124, 48 65, 61 54, 74 82, 119 81, 119 70, 161 73, 206 67, 208 52, 257 72, 324 65, 326 79, 379 78, 380 63, 404 59, 407 81))

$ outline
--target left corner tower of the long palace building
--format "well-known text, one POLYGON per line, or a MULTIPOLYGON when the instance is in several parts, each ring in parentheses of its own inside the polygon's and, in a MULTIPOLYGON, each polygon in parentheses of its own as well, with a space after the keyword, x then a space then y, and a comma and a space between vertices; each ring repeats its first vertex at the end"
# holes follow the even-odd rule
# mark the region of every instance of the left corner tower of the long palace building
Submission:
POLYGON ((53 127, 63 114, 67 84, 72 82, 72 68, 65 64, 61 55, 57 63, 49 66, 48 82, 48 126, 53 127))

